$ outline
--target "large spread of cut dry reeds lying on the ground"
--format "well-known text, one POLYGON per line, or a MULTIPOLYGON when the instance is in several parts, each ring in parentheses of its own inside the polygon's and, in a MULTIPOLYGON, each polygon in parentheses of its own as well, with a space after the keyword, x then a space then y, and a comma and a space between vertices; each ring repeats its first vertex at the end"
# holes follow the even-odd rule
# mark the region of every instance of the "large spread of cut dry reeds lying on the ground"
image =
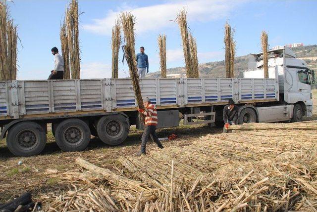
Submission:
POLYGON ((311 126, 305 129, 303 123, 290 125, 261 124, 267 127, 207 135, 144 157, 123 156, 111 170, 78 158, 88 170, 79 173, 86 182, 89 173, 98 174, 107 187, 90 183, 43 198, 50 212, 315 212, 317 122, 305 123, 311 126), (285 127, 290 125, 292 130, 285 127))

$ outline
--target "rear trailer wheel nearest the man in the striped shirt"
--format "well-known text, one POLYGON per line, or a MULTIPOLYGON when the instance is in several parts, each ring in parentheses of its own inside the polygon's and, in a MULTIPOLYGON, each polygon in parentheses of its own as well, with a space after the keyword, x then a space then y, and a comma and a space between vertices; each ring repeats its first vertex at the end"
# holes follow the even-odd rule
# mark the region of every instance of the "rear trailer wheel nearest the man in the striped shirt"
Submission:
POLYGON ((103 116, 97 123, 98 137, 108 145, 122 143, 129 134, 129 124, 122 115, 103 116))

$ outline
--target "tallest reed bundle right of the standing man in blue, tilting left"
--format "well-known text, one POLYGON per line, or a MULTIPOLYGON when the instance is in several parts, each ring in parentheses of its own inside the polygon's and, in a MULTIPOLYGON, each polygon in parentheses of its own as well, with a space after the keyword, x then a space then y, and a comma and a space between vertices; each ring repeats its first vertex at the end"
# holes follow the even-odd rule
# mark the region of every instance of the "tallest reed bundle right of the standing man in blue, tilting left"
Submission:
MULTIPOLYGON (((180 13, 177 16, 177 22, 179 25, 180 29, 180 35, 182 37, 182 42, 183 42, 183 51, 184 51, 184 58, 185 58, 185 64, 186 64, 186 75, 187 78, 198 78, 199 72, 198 69, 195 68, 196 64, 193 64, 193 55, 195 57, 195 46, 196 42, 192 39, 193 44, 193 51, 191 52, 191 45, 190 45, 190 39, 189 39, 189 33, 188 33, 188 27, 187 27, 187 14, 185 9, 182 9, 180 13)), ((196 47, 196 52, 197 52, 197 47, 196 47)), ((197 57, 197 53, 196 53, 197 57)), ((198 60, 194 60, 194 63, 198 64, 198 60)))

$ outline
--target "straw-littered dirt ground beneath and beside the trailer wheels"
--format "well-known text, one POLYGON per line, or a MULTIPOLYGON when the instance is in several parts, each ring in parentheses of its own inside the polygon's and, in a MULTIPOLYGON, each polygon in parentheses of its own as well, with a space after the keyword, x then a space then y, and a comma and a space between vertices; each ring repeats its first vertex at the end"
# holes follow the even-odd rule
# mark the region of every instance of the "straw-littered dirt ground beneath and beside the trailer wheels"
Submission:
MULTIPOLYGON (((313 117, 308 120, 317 120, 317 91, 314 91, 313 117)), ((207 134, 221 133, 222 128, 199 125, 194 127, 180 126, 166 129, 159 129, 159 137, 167 137, 169 134, 176 134, 177 139, 163 141, 165 147, 190 145, 196 139, 207 134)), ((132 127, 128 139, 119 146, 108 146, 98 138, 93 137, 88 148, 82 152, 62 152, 56 143, 52 132, 48 133, 48 142, 41 155, 33 157, 15 157, 6 147, 5 140, 0 141, 0 202, 4 202, 25 191, 32 192, 35 199, 48 193, 61 193, 68 190, 71 184, 81 186, 71 176, 60 178, 47 174, 50 171, 72 172, 78 170, 75 164, 77 157, 94 161, 100 167, 112 169, 111 166, 119 156, 134 155, 140 150, 142 131, 132 127), (18 165, 21 161, 22 165, 18 165)), ((147 151, 154 151, 156 144, 149 142, 147 151)), ((96 182, 95 184, 103 182, 96 182)))

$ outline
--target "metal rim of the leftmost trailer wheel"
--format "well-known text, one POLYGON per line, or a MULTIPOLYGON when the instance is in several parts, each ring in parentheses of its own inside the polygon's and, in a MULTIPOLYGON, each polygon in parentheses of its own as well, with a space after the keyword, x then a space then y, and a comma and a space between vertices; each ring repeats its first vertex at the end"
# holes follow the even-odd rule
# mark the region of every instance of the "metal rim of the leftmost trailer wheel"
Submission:
POLYGON ((38 144, 39 138, 35 131, 24 129, 16 134, 15 141, 21 149, 30 150, 38 144))

